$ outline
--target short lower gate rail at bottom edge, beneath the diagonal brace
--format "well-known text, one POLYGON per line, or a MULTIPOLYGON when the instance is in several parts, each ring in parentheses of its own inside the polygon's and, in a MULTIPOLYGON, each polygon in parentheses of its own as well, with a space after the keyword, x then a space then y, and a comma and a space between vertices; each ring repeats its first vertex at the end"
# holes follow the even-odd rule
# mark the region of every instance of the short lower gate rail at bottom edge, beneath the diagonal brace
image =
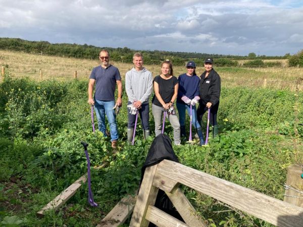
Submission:
MULTIPOLYGON (((171 215, 151 205, 148 206, 145 218, 159 227, 176 227, 176 226, 190 227, 190 225, 185 224, 184 222, 178 220, 177 218, 172 217, 171 215)), ((200 225, 191 225, 191 226, 200 226, 200 225)))

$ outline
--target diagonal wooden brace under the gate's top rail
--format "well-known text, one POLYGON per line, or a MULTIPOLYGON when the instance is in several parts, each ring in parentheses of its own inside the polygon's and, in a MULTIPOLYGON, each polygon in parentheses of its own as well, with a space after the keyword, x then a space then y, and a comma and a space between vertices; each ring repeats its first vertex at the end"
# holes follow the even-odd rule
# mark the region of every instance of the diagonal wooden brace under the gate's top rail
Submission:
POLYGON ((174 193, 166 192, 170 201, 174 204, 177 211, 189 226, 205 226, 204 222, 199 218, 196 210, 190 204, 184 193, 178 188, 174 193))

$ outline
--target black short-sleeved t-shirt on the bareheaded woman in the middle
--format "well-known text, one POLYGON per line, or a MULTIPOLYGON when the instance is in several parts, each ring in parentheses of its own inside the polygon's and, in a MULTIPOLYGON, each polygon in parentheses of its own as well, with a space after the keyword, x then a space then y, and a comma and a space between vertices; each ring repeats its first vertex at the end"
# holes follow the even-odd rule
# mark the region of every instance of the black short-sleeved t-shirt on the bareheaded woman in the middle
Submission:
MULTIPOLYGON (((179 83, 178 79, 172 76, 172 78, 165 80, 161 76, 157 76, 155 77, 154 82, 157 82, 159 84, 159 93, 163 101, 165 103, 169 103, 175 93, 175 85, 179 83)), ((162 107, 162 104, 156 95, 154 95, 152 102, 153 104, 162 107)))

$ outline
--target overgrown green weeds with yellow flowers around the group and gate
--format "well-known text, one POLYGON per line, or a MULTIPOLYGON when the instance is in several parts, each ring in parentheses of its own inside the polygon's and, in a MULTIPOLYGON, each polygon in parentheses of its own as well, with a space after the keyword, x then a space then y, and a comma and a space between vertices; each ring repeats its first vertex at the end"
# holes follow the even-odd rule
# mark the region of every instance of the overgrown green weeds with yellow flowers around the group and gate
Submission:
MULTIPOLYGON (((154 134, 142 140, 138 124, 135 145, 127 144, 124 94, 117 118, 120 152, 113 156, 109 139, 91 130, 86 90, 86 80, 36 82, 5 75, 0 84, 1 226, 95 226, 121 197, 138 188, 154 134), (86 172, 80 141, 89 144, 92 165, 110 162, 109 167, 92 171, 99 206, 88 205, 83 185, 59 212, 37 218, 38 210, 86 172)), ((211 139, 209 147, 174 146, 175 153, 187 166, 283 199, 287 166, 303 161, 302 103, 301 91, 224 87, 220 136, 211 139)), ((172 137, 169 124, 166 132, 172 137)), ((216 212, 226 210, 224 204, 183 190, 209 226, 272 226, 241 211, 216 212)))

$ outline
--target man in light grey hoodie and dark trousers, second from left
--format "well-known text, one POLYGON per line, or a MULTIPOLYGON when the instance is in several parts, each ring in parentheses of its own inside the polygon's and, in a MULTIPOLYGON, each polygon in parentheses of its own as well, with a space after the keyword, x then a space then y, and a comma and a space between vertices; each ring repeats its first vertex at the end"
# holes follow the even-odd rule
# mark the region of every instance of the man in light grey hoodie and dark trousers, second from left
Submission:
POLYGON ((128 112, 127 140, 132 142, 134 133, 136 111, 139 111, 143 137, 149 136, 149 96, 153 90, 153 76, 143 67, 141 53, 133 55, 134 68, 125 75, 125 90, 128 96, 128 106, 135 111, 128 112))

